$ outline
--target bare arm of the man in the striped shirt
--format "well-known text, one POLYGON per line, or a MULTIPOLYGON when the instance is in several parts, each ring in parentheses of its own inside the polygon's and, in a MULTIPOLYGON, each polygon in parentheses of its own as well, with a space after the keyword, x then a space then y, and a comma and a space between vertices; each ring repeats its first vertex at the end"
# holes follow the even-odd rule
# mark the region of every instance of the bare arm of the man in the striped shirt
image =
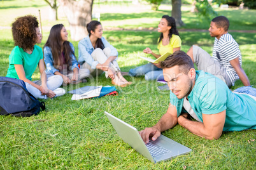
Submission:
POLYGON ((243 85, 250 86, 250 81, 239 63, 239 58, 237 57, 234 60, 231 60, 230 63, 236 70, 236 73, 238 74, 240 80, 243 82, 243 85))

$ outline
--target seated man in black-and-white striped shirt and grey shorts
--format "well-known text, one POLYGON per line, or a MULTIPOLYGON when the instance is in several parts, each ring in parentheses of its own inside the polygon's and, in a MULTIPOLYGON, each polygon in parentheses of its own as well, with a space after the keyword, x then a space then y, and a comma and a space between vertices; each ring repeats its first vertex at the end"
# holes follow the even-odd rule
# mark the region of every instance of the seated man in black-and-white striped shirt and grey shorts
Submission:
POLYGON ((204 70, 222 79, 229 88, 241 79, 244 86, 250 86, 250 81, 242 69, 242 56, 238 43, 227 31, 229 20, 225 16, 217 16, 211 20, 210 36, 215 37, 213 57, 199 46, 192 46, 187 55, 196 63, 198 70, 204 70))

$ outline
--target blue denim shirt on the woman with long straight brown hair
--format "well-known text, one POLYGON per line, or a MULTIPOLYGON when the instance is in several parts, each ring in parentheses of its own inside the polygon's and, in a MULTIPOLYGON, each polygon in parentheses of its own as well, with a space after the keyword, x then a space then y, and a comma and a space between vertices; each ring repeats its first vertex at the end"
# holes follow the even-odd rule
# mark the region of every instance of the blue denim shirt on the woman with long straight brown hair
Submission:
MULTIPOLYGON (((75 53, 75 48, 71 42, 69 42, 69 46, 71 47, 73 53, 75 53)), ((50 47, 46 46, 43 49, 43 53, 45 56, 44 60, 45 60, 45 65, 46 65, 46 74, 54 74, 57 71, 59 72, 58 69, 55 69, 55 67, 53 67, 54 63, 53 63, 53 57, 52 57, 52 49, 50 47)), ((73 70, 75 68, 79 69, 78 62, 76 61, 75 55, 70 53, 69 56, 71 57, 71 63, 69 65, 69 70, 73 70)))

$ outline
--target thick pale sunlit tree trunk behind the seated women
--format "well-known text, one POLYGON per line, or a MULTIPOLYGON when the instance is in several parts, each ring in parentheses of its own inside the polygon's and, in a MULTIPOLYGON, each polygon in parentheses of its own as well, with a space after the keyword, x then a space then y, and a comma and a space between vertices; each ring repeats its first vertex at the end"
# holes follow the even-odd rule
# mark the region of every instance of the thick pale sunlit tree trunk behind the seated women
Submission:
POLYGON ((92 20, 93 0, 58 0, 68 18, 71 39, 80 41, 88 32, 87 23, 92 20))

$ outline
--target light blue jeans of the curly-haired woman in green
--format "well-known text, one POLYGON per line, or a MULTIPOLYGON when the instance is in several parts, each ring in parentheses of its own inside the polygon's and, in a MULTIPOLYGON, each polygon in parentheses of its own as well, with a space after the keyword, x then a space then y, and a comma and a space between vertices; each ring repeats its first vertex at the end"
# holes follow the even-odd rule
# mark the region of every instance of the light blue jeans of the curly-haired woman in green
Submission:
MULTIPOLYGON (((54 74, 46 74, 47 77, 47 87, 48 89, 52 90, 54 92, 55 89, 59 88, 62 85, 63 79, 60 75, 54 75, 54 74)), ((41 85, 41 80, 34 81, 34 83, 41 85)), ((27 91, 31 93, 35 98, 43 98, 46 99, 46 95, 41 95, 41 91, 39 89, 35 88, 31 84, 25 82, 25 86, 27 88, 27 91)), ((64 89, 63 89, 64 91, 64 89)))

